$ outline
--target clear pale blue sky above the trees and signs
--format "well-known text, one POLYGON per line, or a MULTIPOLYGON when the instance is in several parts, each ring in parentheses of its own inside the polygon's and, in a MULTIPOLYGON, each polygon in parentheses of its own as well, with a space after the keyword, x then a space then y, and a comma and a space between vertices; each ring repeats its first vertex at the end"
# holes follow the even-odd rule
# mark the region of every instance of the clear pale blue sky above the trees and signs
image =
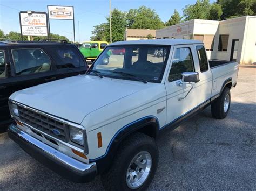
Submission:
MULTIPOLYGON (((182 8, 187 4, 194 4, 196 0, 112 0, 112 9, 121 11, 137 9, 145 5, 155 9, 161 20, 166 22, 177 9, 182 15, 182 8)), ((212 1, 210 1, 212 2, 212 1)), ((109 0, 0 0, 0 29, 4 33, 10 31, 20 32, 19 11, 42 11, 47 12, 47 5, 74 6, 76 41, 90 40, 93 26, 106 22, 109 15, 109 0), (79 28, 78 30, 78 22, 79 28), (78 32, 79 31, 79 32, 78 32)), ((51 33, 60 34, 73 40, 72 20, 50 20, 51 33)))

